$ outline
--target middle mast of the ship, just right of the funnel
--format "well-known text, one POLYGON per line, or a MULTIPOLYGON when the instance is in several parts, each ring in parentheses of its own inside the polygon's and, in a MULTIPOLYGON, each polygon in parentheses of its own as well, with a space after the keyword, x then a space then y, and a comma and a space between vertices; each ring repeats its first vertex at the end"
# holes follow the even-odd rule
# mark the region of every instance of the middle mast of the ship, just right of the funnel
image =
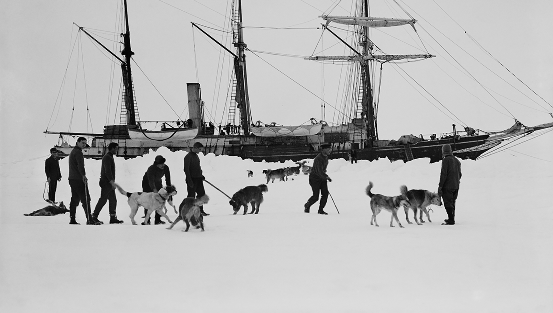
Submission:
POLYGON ((248 96, 248 78, 246 75, 246 55, 244 50, 247 45, 243 39, 242 25, 242 0, 238 0, 238 20, 233 20, 237 23, 237 40, 234 46, 237 47, 237 55, 234 57, 234 74, 236 75, 236 107, 240 109, 240 123, 244 134, 249 134, 249 126, 252 124, 252 113, 249 107, 248 96))

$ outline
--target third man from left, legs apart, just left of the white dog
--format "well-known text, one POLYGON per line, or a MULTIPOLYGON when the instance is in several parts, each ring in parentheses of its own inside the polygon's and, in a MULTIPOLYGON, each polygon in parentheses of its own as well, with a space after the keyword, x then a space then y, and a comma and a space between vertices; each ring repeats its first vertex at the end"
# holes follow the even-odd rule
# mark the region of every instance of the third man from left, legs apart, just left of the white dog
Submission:
POLYGON ((100 199, 94 208, 92 218, 96 222, 103 222, 98 220, 98 215, 106 202, 109 201, 109 224, 121 224, 123 221, 117 219, 115 210, 117 208, 117 197, 115 195, 115 160, 113 156, 117 154, 119 145, 117 142, 111 142, 107 146, 107 153, 102 157, 102 168, 100 169, 100 199))

